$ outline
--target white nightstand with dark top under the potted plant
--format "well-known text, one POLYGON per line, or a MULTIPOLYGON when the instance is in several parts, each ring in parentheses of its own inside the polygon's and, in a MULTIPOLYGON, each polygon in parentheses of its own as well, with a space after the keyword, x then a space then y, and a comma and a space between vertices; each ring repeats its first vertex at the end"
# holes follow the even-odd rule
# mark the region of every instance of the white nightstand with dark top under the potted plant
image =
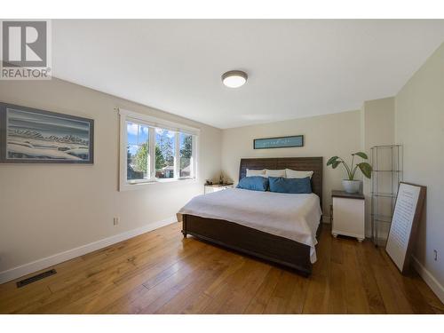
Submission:
POLYGON ((361 193, 331 191, 333 199, 333 222, 331 234, 356 237, 359 242, 365 238, 365 198, 361 193))

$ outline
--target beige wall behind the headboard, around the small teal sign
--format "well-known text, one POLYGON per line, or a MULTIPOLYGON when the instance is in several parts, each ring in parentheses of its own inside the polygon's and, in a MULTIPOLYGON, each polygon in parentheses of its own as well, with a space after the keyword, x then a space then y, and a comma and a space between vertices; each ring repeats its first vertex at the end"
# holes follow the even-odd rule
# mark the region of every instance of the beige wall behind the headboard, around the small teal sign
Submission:
POLYGON ((324 158, 323 207, 329 215, 331 189, 341 188, 345 178, 342 167, 325 166, 329 157, 348 159, 361 148, 360 111, 320 115, 277 123, 266 123, 224 130, 222 133, 222 170, 237 182, 242 157, 322 156, 324 158), (297 148, 253 149, 253 139, 304 134, 305 146, 297 148))

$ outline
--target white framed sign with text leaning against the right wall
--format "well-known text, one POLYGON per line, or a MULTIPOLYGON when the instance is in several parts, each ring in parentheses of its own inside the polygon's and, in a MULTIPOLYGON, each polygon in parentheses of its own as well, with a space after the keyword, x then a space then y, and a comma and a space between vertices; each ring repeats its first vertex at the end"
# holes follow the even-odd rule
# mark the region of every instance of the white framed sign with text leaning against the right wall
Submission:
POLYGON ((385 245, 385 251, 405 274, 410 262, 412 240, 416 238, 417 225, 421 218, 425 186, 400 182, 394 206, 392 225, 385 245))

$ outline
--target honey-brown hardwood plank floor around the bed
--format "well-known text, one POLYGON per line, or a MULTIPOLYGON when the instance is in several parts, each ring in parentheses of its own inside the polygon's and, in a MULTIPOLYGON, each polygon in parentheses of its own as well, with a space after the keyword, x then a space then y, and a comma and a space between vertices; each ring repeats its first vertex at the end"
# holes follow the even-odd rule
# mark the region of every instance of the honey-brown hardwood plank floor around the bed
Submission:
POLYGON ((334 239, 329 226, 310 278, 184 240, 180 229, 69 260, 20 289, 0 285, 0 313, 444 313, 416 273, 400 275, 383 249, 334 239))

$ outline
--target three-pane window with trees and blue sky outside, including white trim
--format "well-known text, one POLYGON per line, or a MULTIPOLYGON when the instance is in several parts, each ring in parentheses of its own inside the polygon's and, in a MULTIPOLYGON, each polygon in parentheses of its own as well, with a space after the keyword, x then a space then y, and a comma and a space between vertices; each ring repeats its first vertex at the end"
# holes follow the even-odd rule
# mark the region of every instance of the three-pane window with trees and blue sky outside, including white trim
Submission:
POLYGON ((120 110, 121 190, 194 179, 199 130, 120 110))

